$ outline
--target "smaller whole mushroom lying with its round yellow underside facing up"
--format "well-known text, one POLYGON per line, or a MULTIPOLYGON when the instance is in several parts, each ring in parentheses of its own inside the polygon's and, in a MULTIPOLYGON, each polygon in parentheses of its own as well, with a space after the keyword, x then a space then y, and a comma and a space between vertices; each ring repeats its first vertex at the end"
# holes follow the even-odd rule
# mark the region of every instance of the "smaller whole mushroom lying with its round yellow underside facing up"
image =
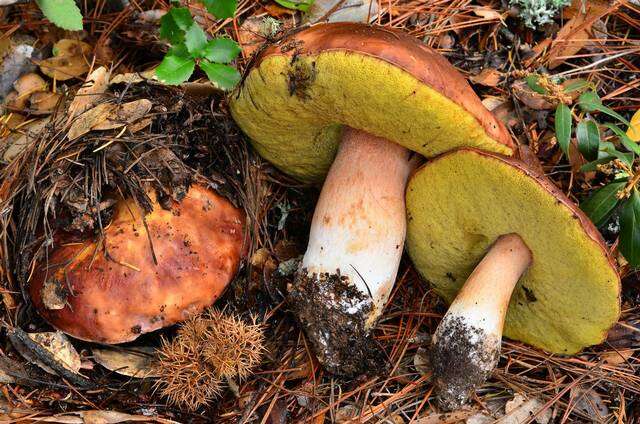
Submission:
POLYGON ((407 186, 407 250, 450 307, 431 365, 441 404, 466 402, 504 334, 574 354, 620 314, 620 278, 589 219, 522 162, 475 149, 441 155, 407 186), (466 281, 466 282, 465 282, 466 281))

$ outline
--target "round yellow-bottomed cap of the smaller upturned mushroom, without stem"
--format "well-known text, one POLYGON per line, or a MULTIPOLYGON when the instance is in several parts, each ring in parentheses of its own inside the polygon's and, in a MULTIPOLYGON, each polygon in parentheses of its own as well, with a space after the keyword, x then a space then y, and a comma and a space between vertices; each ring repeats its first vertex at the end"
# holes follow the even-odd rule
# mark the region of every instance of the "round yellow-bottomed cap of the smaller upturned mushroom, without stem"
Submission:
POLYGON ((448 303, 490 245, 516 233, 533 262, 504 335, 573 354, 604 340, 620 314, 620 277, 600 233, 546 177, 475 149, 441 155, 407 186, 407 250, 448 303))

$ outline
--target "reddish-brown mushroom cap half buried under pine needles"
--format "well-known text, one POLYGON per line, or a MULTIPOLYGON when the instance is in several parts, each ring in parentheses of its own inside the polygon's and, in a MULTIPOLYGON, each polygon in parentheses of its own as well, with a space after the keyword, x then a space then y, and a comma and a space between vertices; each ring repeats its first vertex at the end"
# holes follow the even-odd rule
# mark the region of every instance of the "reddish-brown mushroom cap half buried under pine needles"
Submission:
POLYGON ((78 339, 123 343, 213 304, 237 272, 244 214, 201 185, 169 203, 145 216, 122 200, 103 237, 62 236, 30 281, 40 315, 78 339))

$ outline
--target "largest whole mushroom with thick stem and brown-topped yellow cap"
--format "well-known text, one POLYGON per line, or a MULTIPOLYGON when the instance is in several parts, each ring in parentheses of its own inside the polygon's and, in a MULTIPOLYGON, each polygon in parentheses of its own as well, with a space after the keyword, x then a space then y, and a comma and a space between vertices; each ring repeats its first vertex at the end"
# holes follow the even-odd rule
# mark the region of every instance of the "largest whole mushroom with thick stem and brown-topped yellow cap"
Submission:
POLYGON ((304 182, 326 176, 290 304, 326 369, 372 369, 368 333, 402 255, 411 151, 510 155, 508 133, 438 53, 356 23, 318 24, 269 45, 230 106, 264 158, 304 182))

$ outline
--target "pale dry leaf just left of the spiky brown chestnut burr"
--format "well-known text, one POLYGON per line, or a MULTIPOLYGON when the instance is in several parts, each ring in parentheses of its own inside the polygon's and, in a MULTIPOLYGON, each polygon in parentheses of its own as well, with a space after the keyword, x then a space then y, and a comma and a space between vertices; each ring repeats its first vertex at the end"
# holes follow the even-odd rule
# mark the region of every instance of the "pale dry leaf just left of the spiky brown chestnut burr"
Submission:
POLYGON ((136 378, 158 376, 153 372, 155 351, 154 348, 146 346, 128 349, 91 349, 93 359, 109 371, 136 378))

